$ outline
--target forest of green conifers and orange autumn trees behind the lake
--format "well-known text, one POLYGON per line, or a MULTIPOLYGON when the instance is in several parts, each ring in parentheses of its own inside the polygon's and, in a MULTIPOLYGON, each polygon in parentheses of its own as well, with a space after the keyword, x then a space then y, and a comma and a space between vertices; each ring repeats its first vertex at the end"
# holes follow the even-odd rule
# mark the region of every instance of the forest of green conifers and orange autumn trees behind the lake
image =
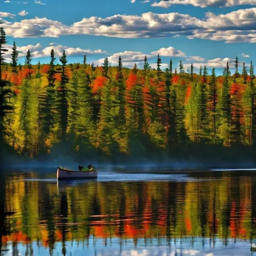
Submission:
POLYGON ((50 62, 23 64, 13 42, 6 62, 0 28, 0 135, 6 154, 35 159, 253 160, 256 143, 255 76, 252 61, 238 58, 216 76, 214 67, 138 69, 68 63, 63 51, 50 62), (59 60, 59 61, 58 61, 59 60), (59 62, 59 64, 58 64, 59 62), (245 158, 244 158, 245 157, 245 158))

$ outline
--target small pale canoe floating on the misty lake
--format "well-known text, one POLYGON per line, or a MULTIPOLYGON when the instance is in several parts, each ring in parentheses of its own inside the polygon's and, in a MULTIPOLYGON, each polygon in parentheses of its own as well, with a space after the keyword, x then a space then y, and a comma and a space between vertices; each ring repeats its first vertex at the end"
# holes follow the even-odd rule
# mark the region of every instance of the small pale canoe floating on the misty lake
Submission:
POLYGON ((57 179, 74 179, 74 178, 97 178, 98 171, 93 169, 90 171, 76 171, 63 167, 57 168, 57 179))

